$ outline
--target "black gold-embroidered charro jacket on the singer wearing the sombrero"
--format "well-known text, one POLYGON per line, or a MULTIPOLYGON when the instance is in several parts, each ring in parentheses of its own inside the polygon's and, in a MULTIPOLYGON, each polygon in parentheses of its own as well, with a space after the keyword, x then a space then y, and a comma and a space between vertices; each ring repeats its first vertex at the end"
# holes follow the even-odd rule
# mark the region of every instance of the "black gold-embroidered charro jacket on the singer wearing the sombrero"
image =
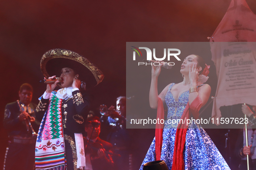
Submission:
MULTIPOLYGON (((84 133, 84 124, 91 107, 92 96, 79 90, 72 92, 73 98, 62 100, 62 120, 64 133, 84 133), (66 114, 65 114, 66 113, 66 114), (66 120, 66 121, 65 121, 66 120)), ((36 108, 36 118, 42 120, 49 106, 49 99, 42 98, 36 108)))

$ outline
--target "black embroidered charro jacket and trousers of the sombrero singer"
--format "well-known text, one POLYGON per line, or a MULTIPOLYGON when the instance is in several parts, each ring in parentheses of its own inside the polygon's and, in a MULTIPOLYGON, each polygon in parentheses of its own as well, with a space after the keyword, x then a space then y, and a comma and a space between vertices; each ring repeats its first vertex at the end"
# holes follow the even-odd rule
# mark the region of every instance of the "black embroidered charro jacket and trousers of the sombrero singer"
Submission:
MULTIPOLYGON (((73 98, 62 100, 62 120, 65 139, 65 155, 68 170, 76 170, 77 158, 74 133, 83 133, 85 120, 90 111, 91 95, 81 94, 79 90, 72 92, 73 98), (66 114, 65 114, 66 113, 66 114)), ((41 119, 49 106, 49 99, 42 98, 36 108, 36 118, 41 119)))

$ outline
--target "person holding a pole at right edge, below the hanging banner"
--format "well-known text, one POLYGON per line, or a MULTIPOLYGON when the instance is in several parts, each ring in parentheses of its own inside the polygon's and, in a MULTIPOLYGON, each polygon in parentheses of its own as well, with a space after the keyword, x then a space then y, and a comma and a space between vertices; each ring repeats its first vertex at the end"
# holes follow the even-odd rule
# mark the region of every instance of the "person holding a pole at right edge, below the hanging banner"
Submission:
MULTIPOLYGON (((255 106, 253 111, 255 112, 255 106)), ((242 112, 248 118, 247 132, 248 132, 248 146, 246 146, 245 129, 240 133, 237 139, 236 152, 241 157, 239 170, 247 170, 247 158, 249 155, 250 170, 256 170, 256 114, 247 105, 242 105, 242 112)))

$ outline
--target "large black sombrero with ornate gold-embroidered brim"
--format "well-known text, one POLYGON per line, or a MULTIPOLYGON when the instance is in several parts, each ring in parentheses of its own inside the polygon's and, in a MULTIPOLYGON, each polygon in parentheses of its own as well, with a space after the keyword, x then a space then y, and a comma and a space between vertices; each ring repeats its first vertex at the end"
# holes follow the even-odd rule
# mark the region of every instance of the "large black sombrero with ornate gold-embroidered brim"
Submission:
MULTIPOLYGON (((102 71, 87 58, 65 49, 47 51, 42 56, 40 67, 45 78, 50 76, 59 77, 61 69, 65 67, 74 69, 79 74, 79 79, 86 82, 86 88, 98 85, 104 78, 102 71)), ((58 86, 61 87, 59 84, 58 86)))

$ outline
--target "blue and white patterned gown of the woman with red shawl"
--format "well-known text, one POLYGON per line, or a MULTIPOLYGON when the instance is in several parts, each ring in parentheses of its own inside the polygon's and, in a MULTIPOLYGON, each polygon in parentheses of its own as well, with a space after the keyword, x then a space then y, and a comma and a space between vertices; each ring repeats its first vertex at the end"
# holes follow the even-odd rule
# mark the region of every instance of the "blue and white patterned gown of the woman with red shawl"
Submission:
MULTIPOLYGON (((168 92, 165 95, 165 103, 168 107, 167 120, 180 119, 188 103, 189 91, 185 91, 179 96, 178 101, 175 101, 170 92, 173 85, 175 83, 169 86, 168 92), (177 108, 176 113, 175 108, 177 108)), ((165 161, 169 170, 172 169, 176 135, 176 129, 171 129, 172 126, 175 125, 165 124, 161 151, 161 160, 165 161)), ((230 170, 226 161, 200 124, 188 126, 183 157, 185 170, 230 170)), ((143 170, 143 164, 150 161, 156 161, 155 139, 153 139, 149 147, 140 170, 143 170)))

